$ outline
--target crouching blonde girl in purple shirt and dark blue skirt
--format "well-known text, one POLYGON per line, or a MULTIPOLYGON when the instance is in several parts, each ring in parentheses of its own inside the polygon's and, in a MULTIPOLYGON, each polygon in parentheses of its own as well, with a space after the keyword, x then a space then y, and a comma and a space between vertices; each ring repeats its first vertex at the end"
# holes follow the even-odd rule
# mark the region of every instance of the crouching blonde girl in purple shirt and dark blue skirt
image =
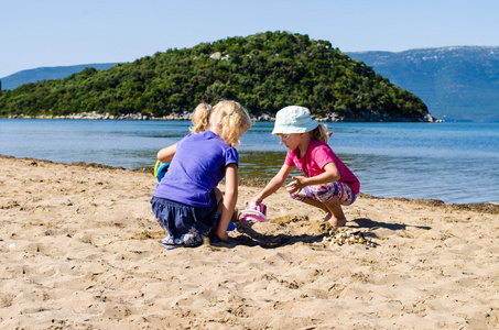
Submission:
POLYGON ((154 187, 151 208, 166 232, 165 248, 197 246, 207 237, 227 241, 238 197, 235 146, 251 124, 236 101, 220 101, 213 109, 203 103, 193 117, 192 134, 159 151, 158 160, 170 166, 154 187), (217 188, 223 178, 225 194, 217 188))

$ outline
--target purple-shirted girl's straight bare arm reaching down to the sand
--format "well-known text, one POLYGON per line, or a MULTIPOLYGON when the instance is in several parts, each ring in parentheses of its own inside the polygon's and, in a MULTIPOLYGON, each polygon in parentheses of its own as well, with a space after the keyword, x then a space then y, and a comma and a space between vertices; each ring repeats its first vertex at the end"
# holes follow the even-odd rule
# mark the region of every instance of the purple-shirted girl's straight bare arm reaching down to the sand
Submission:
POLYGON ((221 206, 220 222, 217 228, 217 237, 226 242, 229 235, 227 227, 232 218, 234 209, 236 208, 238 197, 238 167, 237 164, 229 164, 225 170, 225 196, 221 206))

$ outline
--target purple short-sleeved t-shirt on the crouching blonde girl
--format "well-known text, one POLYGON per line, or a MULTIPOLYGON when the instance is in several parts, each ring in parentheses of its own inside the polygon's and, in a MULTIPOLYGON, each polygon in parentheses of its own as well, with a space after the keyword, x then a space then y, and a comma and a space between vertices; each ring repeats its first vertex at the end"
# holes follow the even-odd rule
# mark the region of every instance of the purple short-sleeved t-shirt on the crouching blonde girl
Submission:
POLYGON ((236 148, 217 134, 205 131, 187 135, 176 145, 176 152, 154 196, 192 207, 207 207, 213 202, 210 193, 225 177, 229 164, 238 164, 236 148))

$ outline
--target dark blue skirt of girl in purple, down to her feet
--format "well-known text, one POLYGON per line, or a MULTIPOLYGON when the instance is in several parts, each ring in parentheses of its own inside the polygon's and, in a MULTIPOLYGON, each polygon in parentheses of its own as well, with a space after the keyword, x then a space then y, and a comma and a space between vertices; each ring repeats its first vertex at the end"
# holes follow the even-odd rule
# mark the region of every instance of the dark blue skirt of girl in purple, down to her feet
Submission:
MULTIPOLYGON (((215 194, 215 190, 213 191, 215 194)), ((217 200, 216 195, 211 200, 217 200)), ((206 208, 195 208, 173 200, 153 197, 151 208, 158 223, 166 231, 161 241, 166 249, 198 246, 218 220, 216 202, 206 208)))

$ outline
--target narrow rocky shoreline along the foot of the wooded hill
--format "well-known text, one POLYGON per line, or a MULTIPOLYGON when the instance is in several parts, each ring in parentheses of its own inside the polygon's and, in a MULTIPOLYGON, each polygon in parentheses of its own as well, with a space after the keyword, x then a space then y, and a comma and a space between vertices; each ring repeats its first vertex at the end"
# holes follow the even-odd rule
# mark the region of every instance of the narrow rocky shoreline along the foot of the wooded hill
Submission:
MULTIPOLYGON (((97 113, 96 111, 93 112, 80 112, 80 113, 70 113, 67 116, 24 116, 24 114, 17 114, 17 116, 9 116, 8 118, 23 118, 23 119, 86 119, 86 120, 191 120, 193 117, 192 111, 183 111, 183 112, 175 112, 169 116, 163 117, 152 117, 143 113, 127 113, 120 116, 112 116, 108 112, 97 113)), ((275 121, 274 114, 271 113, 259 113, 259 114, 250 114, 253 121, 275 121)), ((364 112, 361 118, 356 117, 340 117, 335 112, 330 112, 323 117, 315 117, 317 121, 325 122, 340 122, 340 121, 368 121, 368 122, 442 122, 434 118, 432 114, 426 113, 422 118, 405 118, 402 116, 389 116, 383 113, 382 116, 379 112, 364 112)))

